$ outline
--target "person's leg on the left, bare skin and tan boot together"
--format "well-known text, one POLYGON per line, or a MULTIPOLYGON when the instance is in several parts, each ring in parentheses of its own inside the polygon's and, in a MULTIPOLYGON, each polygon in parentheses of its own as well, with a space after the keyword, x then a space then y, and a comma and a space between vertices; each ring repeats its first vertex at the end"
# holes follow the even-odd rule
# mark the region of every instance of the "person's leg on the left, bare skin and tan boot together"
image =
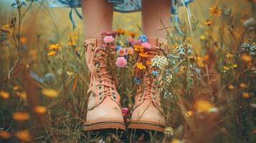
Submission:
POLYGON ((90 73, 89 97, 84 130, 122 129, 120 95, 113 77, 108 74, 107 49, 103 48, 103 31, 112 31, 113 4, 107 0, 81 0, 85 34, 85 59, 90 73))

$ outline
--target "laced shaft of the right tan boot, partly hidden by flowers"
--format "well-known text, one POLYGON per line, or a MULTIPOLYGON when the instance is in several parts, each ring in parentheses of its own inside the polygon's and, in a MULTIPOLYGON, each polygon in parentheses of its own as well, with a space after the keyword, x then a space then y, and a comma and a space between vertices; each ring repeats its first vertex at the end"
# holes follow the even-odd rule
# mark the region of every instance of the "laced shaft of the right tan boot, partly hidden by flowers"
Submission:
MULTIPOLYGON (((156 55, 163 55, 162 53, 169 49, 166 39, 148 38, 148 43, 151 44, 151 48, 146 49, 145 51, 148 53, 148 57, 145 58, 146 62, 151 62, 151 59, 153 59, 156 55)), ((142 58, 139 57, 137 62, 140 62, 141 60, 142 58)), ((136 73, 138 77, 142 79, 142 82, 138 85, 135 96, 135 105, 138 106, 143 102, 151 102, 153 103, 152 105, 160 107, 161 97, 158 87, 158 79, 161 78, 161 75, 158 74, 156 68, 150 67, 150 65, 147 65, 145 71, 136 69, 136 73)))

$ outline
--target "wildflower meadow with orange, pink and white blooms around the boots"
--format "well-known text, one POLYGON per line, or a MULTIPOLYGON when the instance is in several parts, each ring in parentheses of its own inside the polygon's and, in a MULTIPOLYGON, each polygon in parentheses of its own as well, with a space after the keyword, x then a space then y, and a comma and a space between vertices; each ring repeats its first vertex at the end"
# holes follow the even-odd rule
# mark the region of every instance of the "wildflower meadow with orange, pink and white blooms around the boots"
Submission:
POLYGON ((44 0, 1 0, 0 142, 256 142, 256 1, 196 0, 176 10, 159 29, 169 49, 151 61, 141 12, 115 12, 114 31, 102 31, 125 122, 149 70, 165 132, 85 132, 90 72, 81 19, 44 0))

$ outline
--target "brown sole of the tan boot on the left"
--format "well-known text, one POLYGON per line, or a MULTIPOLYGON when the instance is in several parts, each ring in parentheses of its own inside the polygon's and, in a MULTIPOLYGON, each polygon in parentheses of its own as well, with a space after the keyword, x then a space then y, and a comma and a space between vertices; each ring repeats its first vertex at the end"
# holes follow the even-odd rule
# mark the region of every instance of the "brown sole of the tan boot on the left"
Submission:
POLYGON ((85 124, 85 131, 92 131, 96 129, 122 129, 126 130, 125 124, 122 122, 98 122, 94 124, 85 124))

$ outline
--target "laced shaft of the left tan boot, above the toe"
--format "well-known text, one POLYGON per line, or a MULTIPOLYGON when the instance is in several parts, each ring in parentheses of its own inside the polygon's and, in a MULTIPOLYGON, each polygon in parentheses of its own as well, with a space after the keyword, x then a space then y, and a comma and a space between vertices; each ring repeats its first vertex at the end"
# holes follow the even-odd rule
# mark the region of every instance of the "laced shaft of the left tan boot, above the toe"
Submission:
POLYGON ((90 71, 90 85, 87 91, 90 96, 88 109, 105 102, 116 102, 117 104, 120 102, 120 95, 105 63, 108 48, 103 44, 103 39, 85 41, 86 64, 90 71))

